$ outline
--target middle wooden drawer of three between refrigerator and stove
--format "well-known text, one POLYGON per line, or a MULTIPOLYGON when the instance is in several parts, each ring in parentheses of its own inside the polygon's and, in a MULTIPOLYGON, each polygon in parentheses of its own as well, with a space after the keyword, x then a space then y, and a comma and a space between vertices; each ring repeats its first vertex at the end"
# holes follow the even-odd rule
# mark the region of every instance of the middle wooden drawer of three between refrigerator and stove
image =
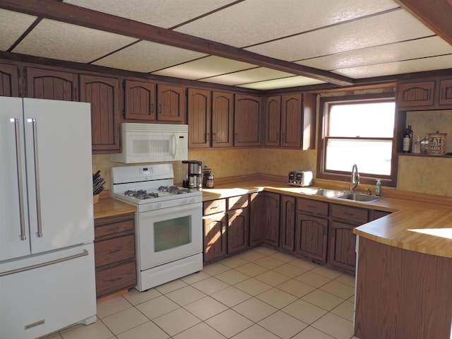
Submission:
POLYGON ((116 263, 135 257, 135 236, 133 234, 94 243, 96 267, 116 263))

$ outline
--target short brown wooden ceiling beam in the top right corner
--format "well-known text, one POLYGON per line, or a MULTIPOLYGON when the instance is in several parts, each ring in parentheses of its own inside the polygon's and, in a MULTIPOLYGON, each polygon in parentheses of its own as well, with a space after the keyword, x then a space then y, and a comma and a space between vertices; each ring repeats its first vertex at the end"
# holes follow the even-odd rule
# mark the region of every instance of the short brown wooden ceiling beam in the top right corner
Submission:
POLYGON ((395 0, 405 11, 452 45, 452 0, 395 0))

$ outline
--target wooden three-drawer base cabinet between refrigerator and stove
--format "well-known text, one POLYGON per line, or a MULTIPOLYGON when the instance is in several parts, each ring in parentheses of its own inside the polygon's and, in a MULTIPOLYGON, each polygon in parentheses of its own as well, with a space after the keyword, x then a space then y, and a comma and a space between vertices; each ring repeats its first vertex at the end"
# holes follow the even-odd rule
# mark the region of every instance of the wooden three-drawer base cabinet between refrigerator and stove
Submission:
POLYGON ((96 297, 136 286, 134 213, 95 219, 96 297))

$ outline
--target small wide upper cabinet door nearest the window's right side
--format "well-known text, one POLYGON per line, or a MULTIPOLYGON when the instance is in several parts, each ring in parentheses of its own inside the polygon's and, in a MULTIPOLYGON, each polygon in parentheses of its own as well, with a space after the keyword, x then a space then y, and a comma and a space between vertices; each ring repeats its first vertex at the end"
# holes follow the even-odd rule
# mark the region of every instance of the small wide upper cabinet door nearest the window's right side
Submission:
POLYGON ((398 107, 431 106, 434 103, 435 81, 399 83, 397 86, 398 107))

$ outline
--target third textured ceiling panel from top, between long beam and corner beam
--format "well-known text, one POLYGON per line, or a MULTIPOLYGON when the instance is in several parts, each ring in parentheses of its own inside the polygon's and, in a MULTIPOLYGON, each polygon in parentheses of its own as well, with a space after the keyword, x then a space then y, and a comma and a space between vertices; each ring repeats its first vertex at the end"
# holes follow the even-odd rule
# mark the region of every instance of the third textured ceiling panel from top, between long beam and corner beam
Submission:
POLYGON ((396 10, 246 49, 296 61, 429 35, 434 33, 410 14, 396 10))

